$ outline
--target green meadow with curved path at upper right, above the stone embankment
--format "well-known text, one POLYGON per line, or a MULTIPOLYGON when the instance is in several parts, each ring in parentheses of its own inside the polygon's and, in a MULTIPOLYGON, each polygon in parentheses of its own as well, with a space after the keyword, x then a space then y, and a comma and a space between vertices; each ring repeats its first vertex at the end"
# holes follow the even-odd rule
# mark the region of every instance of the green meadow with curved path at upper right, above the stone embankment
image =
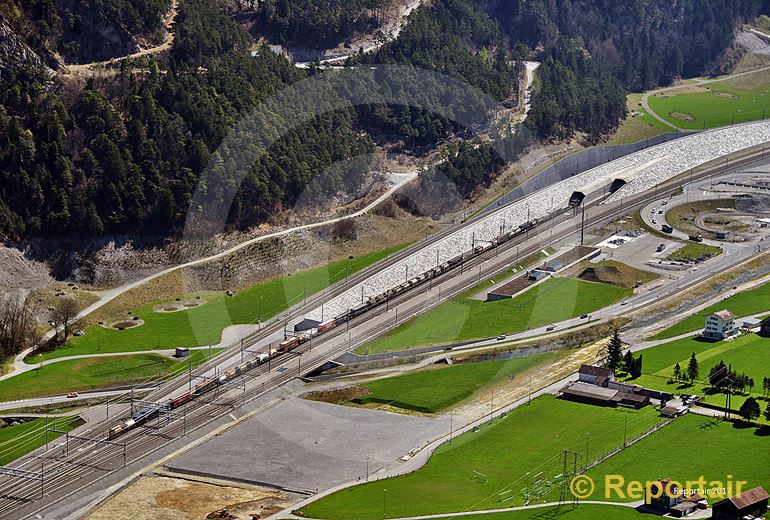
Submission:
POLYGON ((700 130, 756 121, 770 116, 770 84, 744 90, 722 83, 703 85, 703 92, 649 96, 650 108, 680 128, 700 130))

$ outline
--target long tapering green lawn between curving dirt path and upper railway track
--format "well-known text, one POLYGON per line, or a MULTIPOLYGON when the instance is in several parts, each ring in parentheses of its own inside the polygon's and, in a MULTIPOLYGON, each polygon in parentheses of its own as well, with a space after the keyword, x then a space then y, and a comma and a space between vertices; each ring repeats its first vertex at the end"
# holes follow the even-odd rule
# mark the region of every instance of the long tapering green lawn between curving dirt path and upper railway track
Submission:
MULTIPOLYGON (((346 274, 351 275, 406 245, 277 278, 237 291, 234 297, 225 296, 221 292, 201 293, 199 296, 206 303, 184 311, 156 312, 155 307, 163 303, 160 301, 143 305, 133 312, 144 320, 142 326, 115 330, 101 325, 92 325, 86 329, 85 335, 74 337, 63 347, 35 356, 28 362, 36 363, 41 359, 81 354, 137 352, 216 344, 219 343, 225 327, 239 323, 256 323, 260 317, 260 306, 262 320, 265 321, 302 301, 306 288, 308 296, 317 293, 335 282, 344 280, 346 274)), ((197 295, 183 295, 180 298, 194 296, 197 295)))

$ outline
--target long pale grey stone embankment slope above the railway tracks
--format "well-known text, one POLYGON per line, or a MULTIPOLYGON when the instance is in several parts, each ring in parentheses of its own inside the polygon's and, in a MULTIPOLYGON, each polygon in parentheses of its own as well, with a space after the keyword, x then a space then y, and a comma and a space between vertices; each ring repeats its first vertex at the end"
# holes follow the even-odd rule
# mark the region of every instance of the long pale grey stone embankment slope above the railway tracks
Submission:
MULTIPOLYGON (((565 207, 575 191, 609 185, 622 175, 629 180, 608 197, 607 203, 612 203, 650 189, 712 159, 768 141, 770 122, 749 123, 682 137, 598 166, 533 193, 472 225, 458 229, 430 247, 415 251, 326 303, 323 314, 326 318, 340 315, 367 298, 436 267, 437 263, 469 251, 473 244, 483 244, 502 231, 511 231, 528 220, 542 218, 555 208, 565 207)), ((310 312, 307 318, 320 321, 321 309, 310 312)))

